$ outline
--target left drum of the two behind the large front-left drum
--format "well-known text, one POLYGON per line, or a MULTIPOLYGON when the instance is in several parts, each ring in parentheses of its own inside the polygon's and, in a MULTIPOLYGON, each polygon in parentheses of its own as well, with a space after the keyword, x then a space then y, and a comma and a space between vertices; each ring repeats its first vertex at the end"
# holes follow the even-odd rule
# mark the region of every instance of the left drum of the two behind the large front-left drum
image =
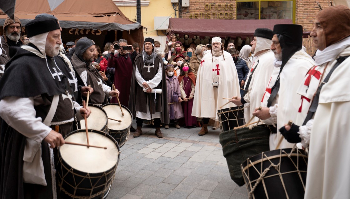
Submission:
MULTIPOLYGON (((102 107, 89 104, 89 108, 91 110, 91 114, 89 118, 87 118, 87 129, 100 130, 105 133, 108 132, 108 118, 106 112, 102 109, 102 107)), ((78 122, 79 129, 85 129, 85 120, 80 120, 78 122)))

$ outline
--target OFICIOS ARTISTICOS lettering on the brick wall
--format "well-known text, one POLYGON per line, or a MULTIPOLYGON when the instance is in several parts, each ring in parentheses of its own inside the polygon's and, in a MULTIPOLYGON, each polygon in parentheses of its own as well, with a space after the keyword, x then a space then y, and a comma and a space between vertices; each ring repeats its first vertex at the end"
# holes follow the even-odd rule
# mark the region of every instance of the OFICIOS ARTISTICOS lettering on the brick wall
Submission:
POLYGON ((204 12, 191 13, 190 19, 233 19, 235 5, 233 3, 206 3, 204 12))

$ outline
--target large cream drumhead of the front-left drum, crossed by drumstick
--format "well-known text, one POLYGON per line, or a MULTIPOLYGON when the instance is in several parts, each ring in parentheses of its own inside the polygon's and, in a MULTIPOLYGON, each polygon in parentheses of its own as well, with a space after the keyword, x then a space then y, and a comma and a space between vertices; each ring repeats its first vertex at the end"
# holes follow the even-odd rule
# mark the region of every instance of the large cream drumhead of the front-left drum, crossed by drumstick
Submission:
MULTIPOLYGON (((69 134, 65 141, 86 144, 86 133, 69 134)), ((107 149, 64 144, 59 147, 63 160, 72 168, 86 173, 101 173, 116 166, 119 151, 114 140, 104 134, 89 132, 89 143, 107 149)))

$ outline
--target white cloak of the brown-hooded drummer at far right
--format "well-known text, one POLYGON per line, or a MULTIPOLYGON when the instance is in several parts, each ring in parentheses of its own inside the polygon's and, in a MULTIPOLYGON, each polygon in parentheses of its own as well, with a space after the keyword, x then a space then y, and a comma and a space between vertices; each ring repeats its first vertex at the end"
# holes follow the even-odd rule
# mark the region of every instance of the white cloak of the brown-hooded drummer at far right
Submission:
MULTIPOLYGON (((349 55, 350 46, 340 53, 349 55)), ((320 65, 328 64, 322 80, 335 63, 334 58, 320 65)), ((334 70, 320 93, 311 129, 305 199, 350 198, 349 65, 350 58, 334 70)))

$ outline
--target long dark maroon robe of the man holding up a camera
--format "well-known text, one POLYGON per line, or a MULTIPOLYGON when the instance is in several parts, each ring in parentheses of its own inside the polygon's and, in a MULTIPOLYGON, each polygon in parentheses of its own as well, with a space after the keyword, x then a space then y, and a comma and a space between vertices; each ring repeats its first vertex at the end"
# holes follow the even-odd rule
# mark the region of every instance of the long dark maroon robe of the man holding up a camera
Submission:
MULTIPOLYGON (((137 52, 134 50, 132 53, 121 55, 120 53, 113 55, 108 59, 107 67, 114 68, 114 85, 120 92, 119 101, 121 105, 128 106, 131 76, 133 71, 134 59, 137 56, 137 52)), ((116 98, 112 98, 111 102, 118 103, 116 98)))

